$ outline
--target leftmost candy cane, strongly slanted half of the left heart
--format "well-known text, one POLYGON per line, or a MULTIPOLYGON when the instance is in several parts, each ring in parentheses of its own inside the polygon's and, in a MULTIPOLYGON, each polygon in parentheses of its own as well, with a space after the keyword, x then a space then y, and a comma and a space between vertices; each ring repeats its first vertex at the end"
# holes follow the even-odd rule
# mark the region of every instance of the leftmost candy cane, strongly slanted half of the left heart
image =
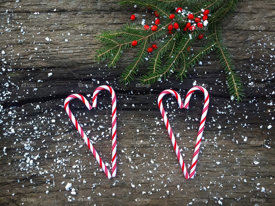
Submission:
POLYGON ((72 123, 74 124, 74 126, 76 127, 76 129, 78 130, 79 134, 81 135, 81 137, 84 139, 85 143, 87 144, 89 150, 91 150, 91 152, 93 153, 93 155, 95 156, 95 159, 97 160, 97 162, 99 163, 100 167, 103 169, 103 171, 105 172, 105 175, 108 177, 108 179, 110 179, 112 176, 109 172, 109 170, 107 169, 105 163, 102 161, 101 157, 99 157, 97 151, 95 150, 95 148, 93 147, 93 144, 91 143, 91 141, 88 139, 87 135, 85 134, 85 132, 83 131, 82 127, 80 126, 80 124, 78 124, 77 120, 75 119, 74 115, 72 114, 70 108, 69 108, 69 102, 74 99, 74 98, 78 98, 80 100, 82 100, 82 102, 86 105, 86 107, 91 110, 92 106, 91 104, 87 101, 87 99, 80 95, 80 94, 71 94, 70 96, 68 96, 65 99, 64 102, 64 107, 65 110, 70 118, 70 120, 72 121, 72 123))

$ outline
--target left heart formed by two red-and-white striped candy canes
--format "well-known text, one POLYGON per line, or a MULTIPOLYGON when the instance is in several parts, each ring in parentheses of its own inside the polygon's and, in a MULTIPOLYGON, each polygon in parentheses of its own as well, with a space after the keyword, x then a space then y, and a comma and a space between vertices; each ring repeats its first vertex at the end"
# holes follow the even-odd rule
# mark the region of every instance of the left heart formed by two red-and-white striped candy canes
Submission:
POLYGON ((71 94, 65 99, 65 102, 64 102, 64 107, 70 120, 78 130, 81 137, 84 139, 89 150, 91 150, 91 152, 95 156, 95 159, 97 160, 97 162, 99 163, 103 171, 105 172, 105 175, 108 177, 108 179, 110 179, 111 177, 115 177, 117 174, 117 101, 116 101, 116 96, 113 88, 106 85, 96 88, 93 93, 92 105, 93 106, 91 106, 91 104, 87 101, 87 99, 81 94, 71 94), (69 102, 74 98, 80 99, 89 110, 91 110, 93 107, 97 107, 97 95, 101 90, 108 90, 112 96, 112 175, 109 172, 108 168, 106 167, 105 163, 102 161, 97 151, 95 150, 95 147, 93 146, 92 142, 88 139, 87 135, 83 131, 80 124, 78 124, 77 120, 75 119, 74 115, 72 114, 69 108, 69 102))

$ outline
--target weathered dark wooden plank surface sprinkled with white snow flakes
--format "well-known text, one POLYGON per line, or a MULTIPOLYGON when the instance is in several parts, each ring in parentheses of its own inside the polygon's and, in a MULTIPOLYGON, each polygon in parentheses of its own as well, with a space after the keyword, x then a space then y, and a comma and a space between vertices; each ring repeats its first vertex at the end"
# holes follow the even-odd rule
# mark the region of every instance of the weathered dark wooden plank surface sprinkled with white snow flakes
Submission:
MULTIPOLYGON (((0 204, 274 205, 274 7, 272 0, 240 1, 224 21, 224 40, 245 84, 246 97, 238 104, 230 100, 215 54, 190 70, 183 82, 169 78, 149 88, 118 82, 133 51, 113 70, 106 62, 94 62, 99 48, 95 35, 118 29, 133 13, 137 22, 150 19, 151 11, 142 17, 145 9, 122 8, 115 0, 0 0, 0 51, 5 51, 0 71, 0 204), (205 84, 211 106, 197 175, 184 180, 157 97, 172 88, 184 99, 195 80, 205 84), (88 95, 91 101, 89 94, 104 84, 117 94, 118 171, 110 180, 63 108, 69 94, 88 95), (69 191, 67 183, 72 183, 69 191)), ((166 99, 178 144, 190 164, 203 95, 198 92, 189 110, 181 112, 171 104, 174 98, 166 99)), ((71 108, 110 163, 110 94, 101 92, 99 102, 90 112, 78 100, 71 108)))

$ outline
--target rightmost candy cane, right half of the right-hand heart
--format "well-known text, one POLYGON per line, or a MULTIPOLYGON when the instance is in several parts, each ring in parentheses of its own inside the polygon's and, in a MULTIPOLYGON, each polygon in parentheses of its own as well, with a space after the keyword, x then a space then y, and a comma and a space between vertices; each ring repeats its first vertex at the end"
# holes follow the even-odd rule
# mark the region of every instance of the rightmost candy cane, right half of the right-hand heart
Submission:
POLYGON ((197 136, 197 141, 196 141, 196 145, 195 145, 195 150, 194 150, 194 155, 193 155, 193 160, 192 160, 192 165, 191 165, 191 170, 190 170, 190 179, 194 179, 197 160, 198 160, 200 146, 201 146, 201 137, 203 136, 203 129, 204 129, 204 124, 205 124, 205 120, 206 120, 206 114, 207 114, 207 110, 209 107, 209 94, 208 94, 207 90, 201 86, 195 86, 195 87, 191 88, 188 91, 188 93, 186 94, 186 98, 184 101, 184 108, 188 109, 190 97, 191 97, 192 93, 195 92, 196 90, 200 90, 201 92, 203 92, 204 105, 203 105, 203 112, 201 115, 201 122, 200 122, 200 126, 199 126, 199 132, 198 132, 198 136, 197 136))

